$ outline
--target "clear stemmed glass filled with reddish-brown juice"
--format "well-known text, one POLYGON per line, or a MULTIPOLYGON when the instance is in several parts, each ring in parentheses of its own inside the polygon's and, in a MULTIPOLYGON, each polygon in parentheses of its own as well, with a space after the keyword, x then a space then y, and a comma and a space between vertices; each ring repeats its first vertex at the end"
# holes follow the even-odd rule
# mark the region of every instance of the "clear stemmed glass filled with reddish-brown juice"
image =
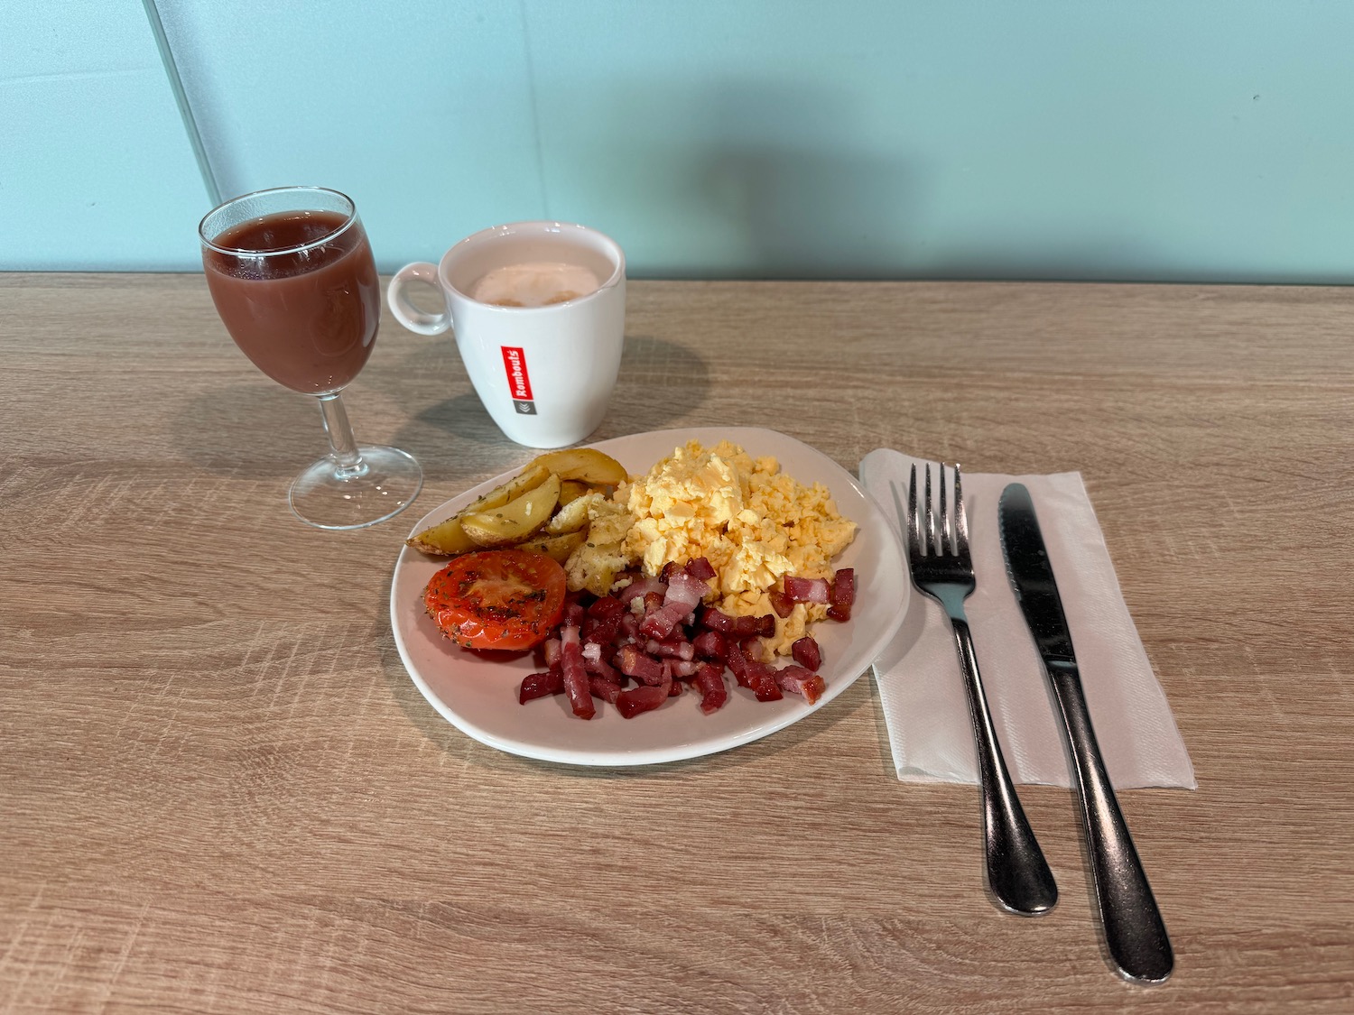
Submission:
POLYGON ((227 200, 198 226, 207 287, 236 345, 320 402, 329 455, 291 483, 291 510, 322 529, 398 514, 422 487, 408 452, 357 445, 340 392, 371 356, 380 281, 349 198, 279 187, 227 200))

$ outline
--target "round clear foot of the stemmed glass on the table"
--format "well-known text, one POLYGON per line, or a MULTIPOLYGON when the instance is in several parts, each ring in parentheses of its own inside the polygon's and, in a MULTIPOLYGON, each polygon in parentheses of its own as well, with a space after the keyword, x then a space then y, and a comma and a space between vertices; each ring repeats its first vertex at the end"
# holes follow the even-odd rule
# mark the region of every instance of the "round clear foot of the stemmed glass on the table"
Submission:
POLYGON ((393 518, 413 503, 422 490, 422 470, 414 456, 363 444, 362 464, 340 468, 332 457, 320 459, 291 483, 291 510, 320 529, 362 529, 393 518))

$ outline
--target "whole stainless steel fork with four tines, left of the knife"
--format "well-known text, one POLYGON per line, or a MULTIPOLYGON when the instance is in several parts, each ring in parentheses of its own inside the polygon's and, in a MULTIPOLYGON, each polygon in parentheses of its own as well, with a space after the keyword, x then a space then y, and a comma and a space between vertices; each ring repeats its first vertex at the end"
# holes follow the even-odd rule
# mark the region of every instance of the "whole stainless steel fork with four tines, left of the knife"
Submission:
POLYGON ((1025 809, 1016 796, 1010 773, 997 742, 997 728, 987 710, 983 679, 978 673, 974 637, 964 616, 964 600, 978 582, 968 552, 968 514, 959 464, 955 466, 955 517, 945 506, 945 464, 940 463, 937 497, 932 497, 932 470, 926 466, 925 525, 917 508, 917 466, 907 487, 907 555, 913 585, 936 600, 949 616, 955 648, 964 671, 968 712, 978 742, 978 774, 983 789, 983 839, 987 853, 987 884, 997 900, 1011 912, 1036 916, 1057 901, 1057 885, 1048 869, 1025 809), (940 510, 933 510, 938 501, 940 510), (938 520, 937 520, 938 513, 938 520), (938 522, 938 524, 937 524, 938 522))

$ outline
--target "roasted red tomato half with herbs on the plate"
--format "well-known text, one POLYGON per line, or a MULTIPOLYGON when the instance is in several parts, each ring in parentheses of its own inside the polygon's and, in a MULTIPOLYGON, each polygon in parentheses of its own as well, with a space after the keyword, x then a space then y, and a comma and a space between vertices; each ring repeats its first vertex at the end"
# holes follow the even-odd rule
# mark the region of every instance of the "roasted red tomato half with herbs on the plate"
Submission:
POLYGON ((531 648, 563 616, 565 568, 528 549, 466 554, 432 577, 424 606, 463 648, 531 648))

